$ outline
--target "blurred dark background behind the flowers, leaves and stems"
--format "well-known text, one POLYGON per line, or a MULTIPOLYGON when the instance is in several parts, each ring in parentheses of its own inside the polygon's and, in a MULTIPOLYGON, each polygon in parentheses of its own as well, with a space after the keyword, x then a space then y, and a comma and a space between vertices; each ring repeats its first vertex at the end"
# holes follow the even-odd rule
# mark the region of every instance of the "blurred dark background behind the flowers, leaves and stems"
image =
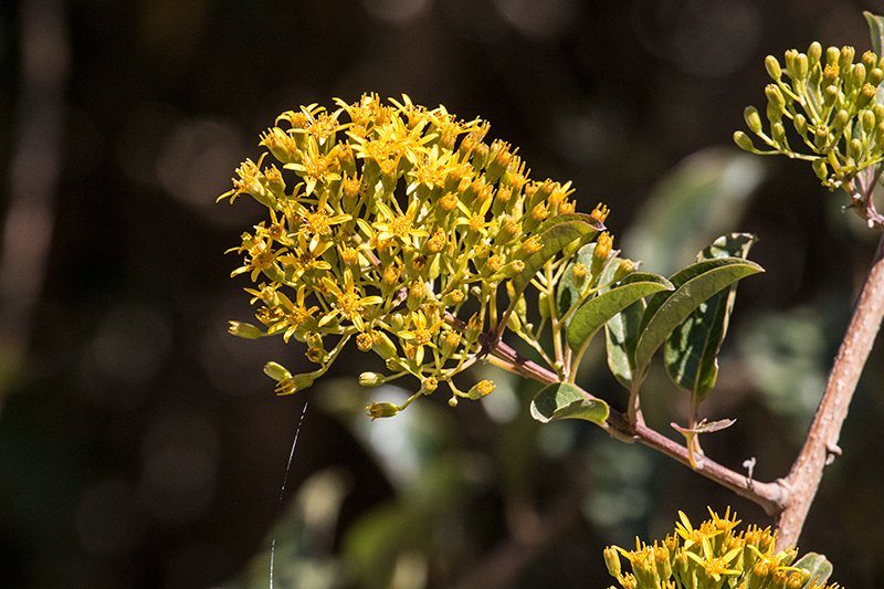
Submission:
MULTIPOLYGON (((422 399, 375 423, 361 408, 404 392, 360 389, 371 366, 355 351, 346 372, 274 397, 262 366, 303 350, 225 333, 252 311, 223 252, 261 211, 214 199, 278 113, 407 93, 490 120, 533 178, 572 180, 580 209, 606 202, 615 245, 649 271, 717 234, 758 234, 767 273, 740 286, 703 407, 737 423, 704 448, 735 470, 755 456, 755 477, 774 480, 876 235, 809 166, 747 156, 730 136, 765 103, 765 55, 813 40, 859 55, 874 4, 3 2, 0 585, 266 587, 275 539, 276 587, 601 588, 601 548, 662 538, 678 509, 770 524, 590 424, 539 425, 537 387, 485 367, 498 389, 484 402, 422 399)), ((581 385, 622 406, 603 350, 589 356, 581 385)), ((853 589, 884 583, 882 356, 878 343, 799 543, 853 589)), ((667 434, 686 420, 662 370, 645 404, 667 434)))

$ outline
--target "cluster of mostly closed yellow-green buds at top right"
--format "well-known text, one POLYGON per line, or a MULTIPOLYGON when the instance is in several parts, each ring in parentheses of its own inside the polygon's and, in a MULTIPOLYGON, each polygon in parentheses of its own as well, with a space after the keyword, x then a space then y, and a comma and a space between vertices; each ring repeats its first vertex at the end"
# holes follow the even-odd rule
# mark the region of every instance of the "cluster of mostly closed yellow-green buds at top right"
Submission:
POLYGON ((774 80, 765 88, 765 125, 754 106, 744 117, 749 130, 772 150, 759 150, 751 138, 736 132, 736 144, 754 154, 782 154, 813 164, 822 183, 839 188, 856 173, 884 159, 884 59, 871 51, 854 63, 852 46, 829 48, 814 42, 807 53, 786 52, 786 67, 774 55, 765 67, 774 80), (767 127, 768 130, 765 130, 767 127), (787 134, 792 127, 806 148, 796 151, 787 134), (808 152, 809 150, 809 152, 808 152))

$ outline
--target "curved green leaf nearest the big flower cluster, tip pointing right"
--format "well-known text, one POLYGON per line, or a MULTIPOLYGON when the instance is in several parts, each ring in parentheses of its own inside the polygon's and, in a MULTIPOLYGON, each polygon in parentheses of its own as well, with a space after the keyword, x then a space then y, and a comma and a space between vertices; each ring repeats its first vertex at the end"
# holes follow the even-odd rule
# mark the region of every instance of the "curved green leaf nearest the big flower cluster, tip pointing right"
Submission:
POLYGON ((629 274, 617 286, 577 309, 568 327, 568 345, 575 351, 581 350, 601 326, 624 308, 650 294, 674 290, 663 276, 644 272, 629 274))

